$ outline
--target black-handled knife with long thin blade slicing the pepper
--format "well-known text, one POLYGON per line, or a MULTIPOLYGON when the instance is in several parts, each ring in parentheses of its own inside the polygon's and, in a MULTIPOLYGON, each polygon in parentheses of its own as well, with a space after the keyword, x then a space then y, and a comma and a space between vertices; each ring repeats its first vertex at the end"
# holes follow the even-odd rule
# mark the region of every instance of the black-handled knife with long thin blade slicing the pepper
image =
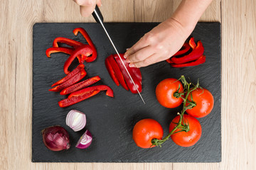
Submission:
MULTIPOLYGON (((127 74, 129 75, 129 78, 132 80, 132 83, 134 84, 139 96, 142 98, 142 95, 139 93, 139 90, 137 89, 137 86, 135 85, 134 80, 132 79, 131 75, 129 74, 127 67, 125 67, 124 62, 122 61, 122 58, 120 57, 119 52, 117 51, 117 48, 114 46, 114 43, 112 42, 112 39, 110 38, 110 35, 107 33, 107 30, 106 30, 106 28, 103 24, 104 18, 102 16, 102 13, 100 12, 100 8, 98 6, 95 6, 95 10, 93 11, 92 16, 93 16, 93 18, 95 18, 95 21, 97 23, 100 23, 102 28, 105 30, 105 33, 107 34, 107 37, 109 38, 112 46, 114 47, 114 50, 117 52, 117 55, 118 55, 119 59, 121 60, 123 66, 124 66, 124 69, 126 70, 127 74)), ((143 98, 142 98, 142 101, 145 104, 145 101, 144 101, 143 98)))

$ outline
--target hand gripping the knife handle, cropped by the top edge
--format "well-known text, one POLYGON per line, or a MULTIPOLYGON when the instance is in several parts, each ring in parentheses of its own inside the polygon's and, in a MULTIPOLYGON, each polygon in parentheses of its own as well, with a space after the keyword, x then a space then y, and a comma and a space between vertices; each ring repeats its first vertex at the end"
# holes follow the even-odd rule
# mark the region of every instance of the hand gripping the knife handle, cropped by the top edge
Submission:
POLYGON ((87 17, 92 14, 95 6, 101 6, 101 0, 73 0, 80 6, 81 16, 87 17))

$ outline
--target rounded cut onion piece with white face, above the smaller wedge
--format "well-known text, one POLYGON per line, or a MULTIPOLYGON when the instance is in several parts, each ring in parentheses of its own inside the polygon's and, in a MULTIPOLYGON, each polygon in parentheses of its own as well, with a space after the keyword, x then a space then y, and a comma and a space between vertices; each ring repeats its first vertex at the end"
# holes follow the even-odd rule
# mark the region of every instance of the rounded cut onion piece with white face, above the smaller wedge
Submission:
POLYGON ((66 124, 75 132, 82 130, 86 125, 85 113, 71 110, 66 117, 66 124))

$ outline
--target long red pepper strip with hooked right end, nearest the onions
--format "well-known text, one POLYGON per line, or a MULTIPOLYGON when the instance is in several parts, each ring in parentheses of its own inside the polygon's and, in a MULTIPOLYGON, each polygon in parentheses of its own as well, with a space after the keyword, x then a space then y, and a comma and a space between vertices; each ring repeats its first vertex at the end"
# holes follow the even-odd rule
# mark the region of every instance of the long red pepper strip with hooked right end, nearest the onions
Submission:
POLYGON ((65 98, 62 101, 59 101, 58 104, 61 108, 65 108, 68 106, 71 106, 75 103, 78 103, 80 101, 84 101, 87 98, 90 98, 92 96, 95 96, 100 91, 105 91, 107 96, 114 97, 112 89, 110 89, 109 86, 100 85, 100 86, 91 86, 87 87, 85 89, 82 89, 80 91, 75 91, 72 94, 68 96, 68 98, 65 98))

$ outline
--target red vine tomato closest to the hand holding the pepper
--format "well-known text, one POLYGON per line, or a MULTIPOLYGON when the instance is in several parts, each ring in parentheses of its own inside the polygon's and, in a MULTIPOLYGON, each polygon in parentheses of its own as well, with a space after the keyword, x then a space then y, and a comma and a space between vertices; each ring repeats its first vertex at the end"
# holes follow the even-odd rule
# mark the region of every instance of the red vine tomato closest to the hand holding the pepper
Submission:
POLYGON ((183 102, 182 98, 174 97, 174 93, 183 91, 181 81, 169 78, 164 79, 156 86, 156 98, 159 103, 166 108, 176 108, 183 102), (180 89, 178 90, 178 86, 180 89))

